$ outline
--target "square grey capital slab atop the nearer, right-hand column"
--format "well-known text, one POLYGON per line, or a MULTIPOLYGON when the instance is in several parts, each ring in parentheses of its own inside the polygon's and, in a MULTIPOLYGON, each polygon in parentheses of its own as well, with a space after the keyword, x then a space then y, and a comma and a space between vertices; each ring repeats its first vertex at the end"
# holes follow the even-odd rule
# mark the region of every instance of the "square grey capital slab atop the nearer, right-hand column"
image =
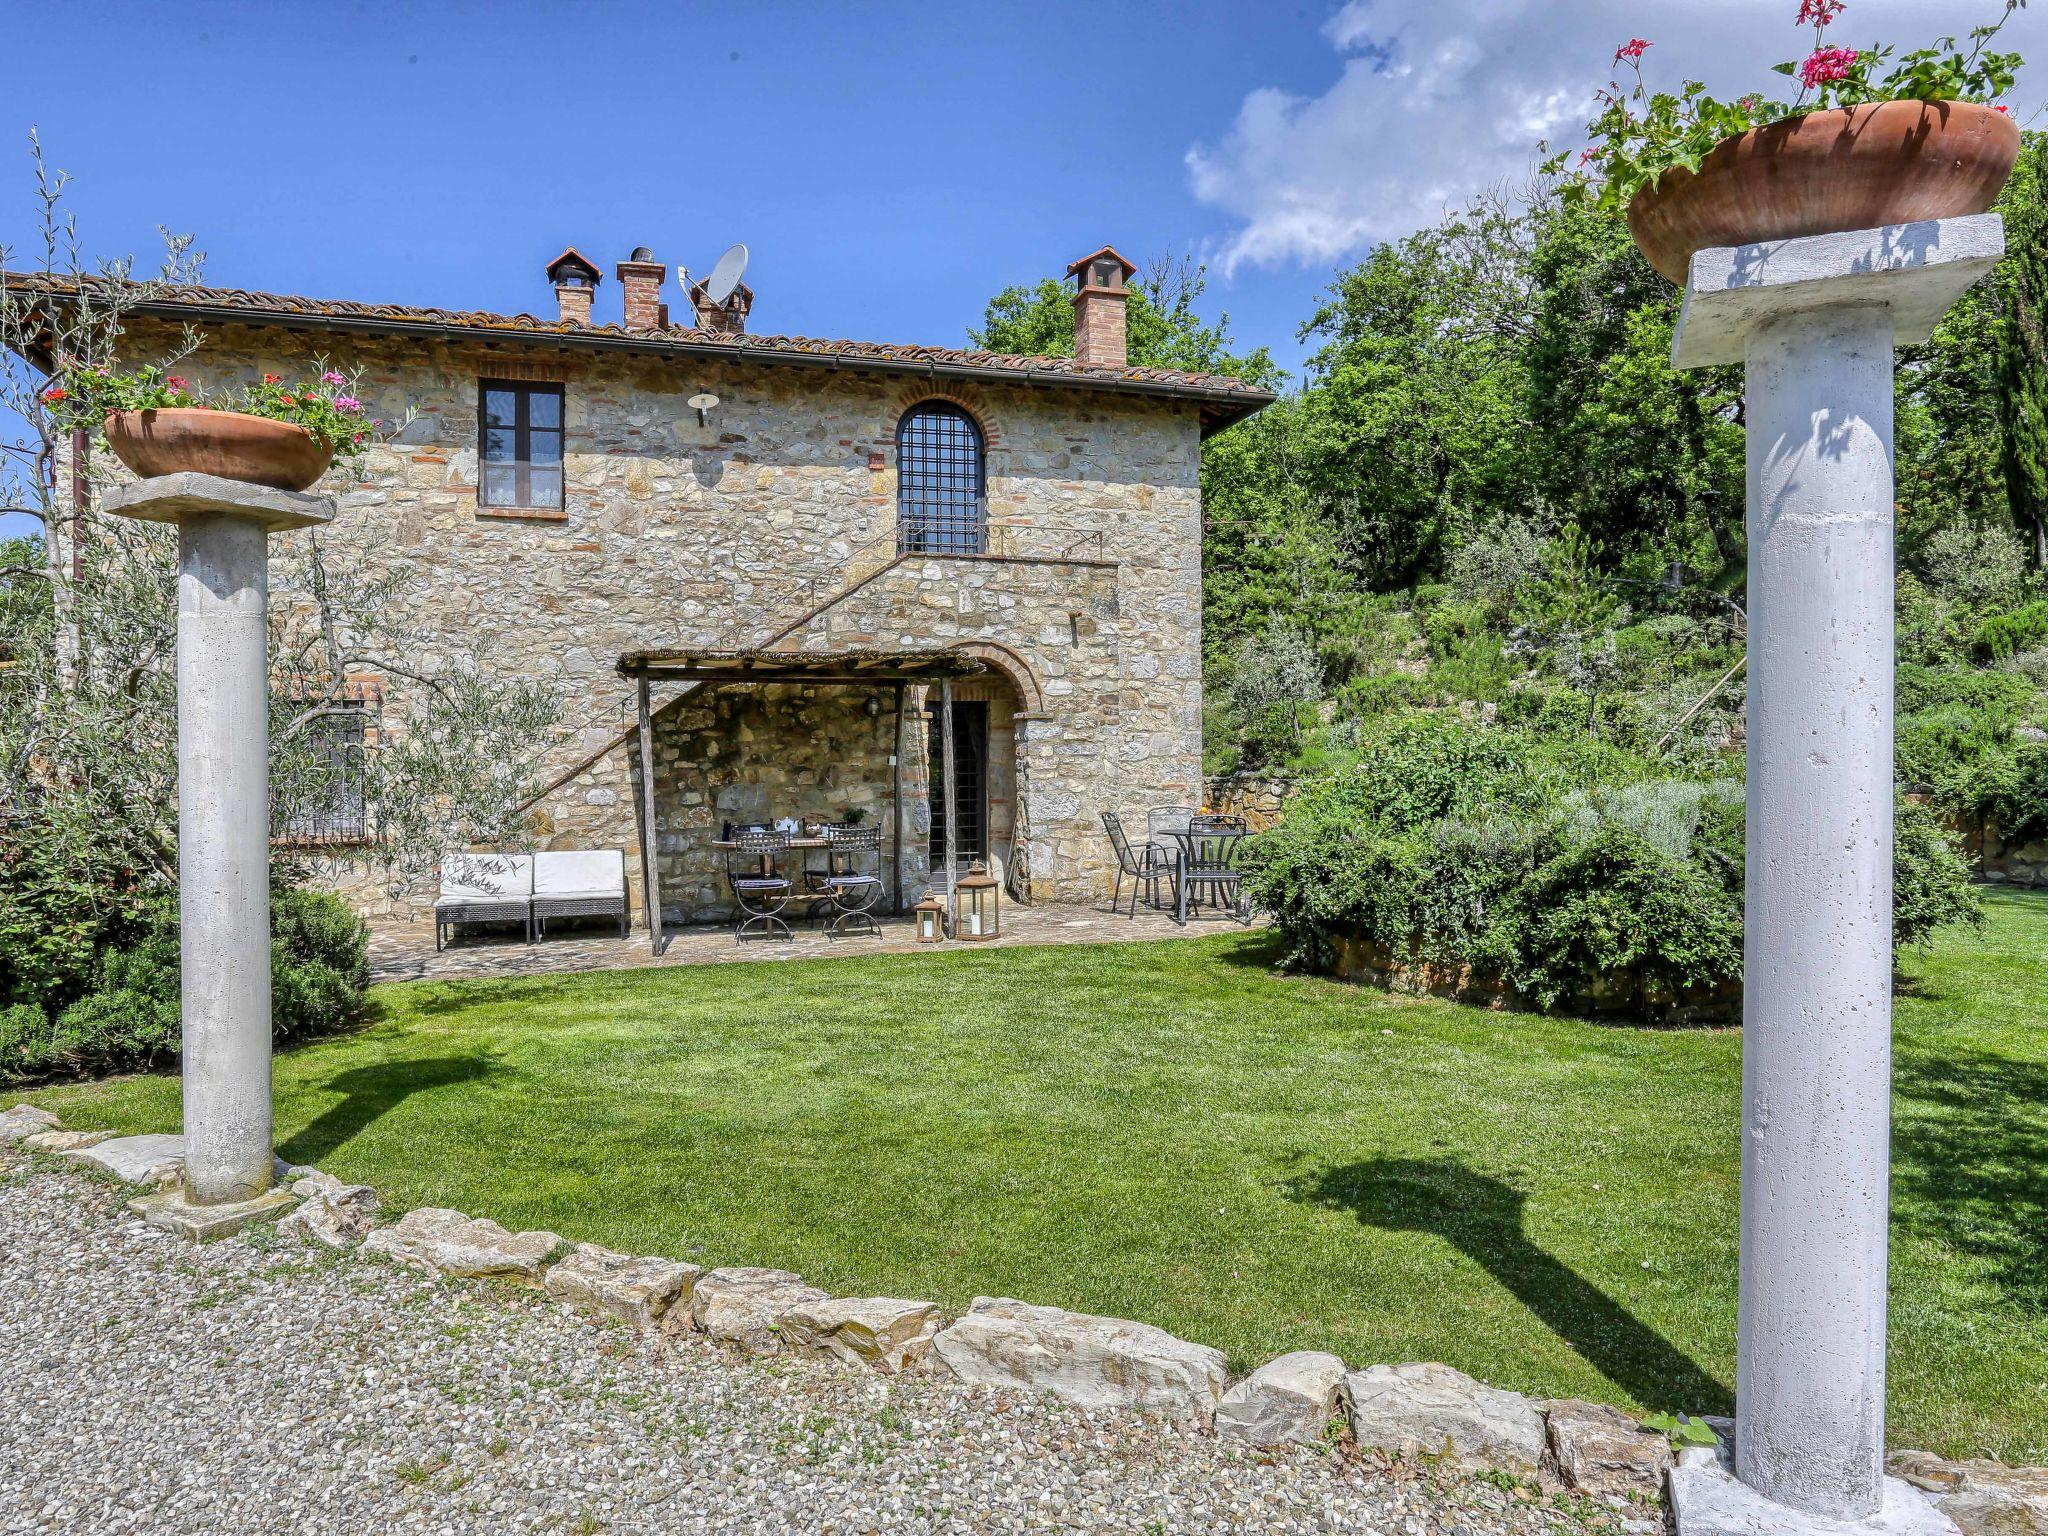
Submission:
POLYGON ((1917 346, 2001 256, 1997 213, 1694 252, 1671 367, 1741 362, 1757 326, 1845 303, 1888 307, 1896 342, 1917 346))

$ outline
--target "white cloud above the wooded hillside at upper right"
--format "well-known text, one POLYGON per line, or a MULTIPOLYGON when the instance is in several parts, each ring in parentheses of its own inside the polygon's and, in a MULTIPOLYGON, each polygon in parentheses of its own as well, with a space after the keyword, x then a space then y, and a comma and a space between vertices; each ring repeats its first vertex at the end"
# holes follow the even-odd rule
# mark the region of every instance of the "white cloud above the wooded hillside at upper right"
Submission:
MULTIPOLYGON (((1735 96, 1784 82, 1806 51, 1796 0, 1348 0, 1323 23, 1341 55, 1319 96, 1251 90, 1214 143, 1188 150, 1202 203, 1231 217, 1225 270, 1243 262, 1327 264, 1399 240, 1475 193, 1518 182, 1536 143, 1577 143, 1608 61, 1649 37, 1653 84, 1679 76, 1735 96)), ((1853 0, 1831 41, 1919 45, 1997 14, 1997 0, 1853 0)), ((2040 66, 2021 76, 2032 115, 2048 80, 2048 4, 2001 35, 2040 66)))

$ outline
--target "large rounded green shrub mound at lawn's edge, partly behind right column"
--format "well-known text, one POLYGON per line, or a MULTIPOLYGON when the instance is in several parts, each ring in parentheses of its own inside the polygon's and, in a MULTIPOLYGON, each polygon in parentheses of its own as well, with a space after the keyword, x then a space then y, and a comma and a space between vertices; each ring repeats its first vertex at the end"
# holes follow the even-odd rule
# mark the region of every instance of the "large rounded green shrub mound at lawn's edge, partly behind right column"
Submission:
MULTIPOLYGON (((1470 965, 1542 1008, 1606 1006, 1626 977, 1628 1006, 1655 1018, 1741 975, 1743 821, 1731 778, 1659 776, 1583 735, 1391 717, 1251 840, 1245 885, 1292 965, 1327 967, 1358 938, 1470 965)), ((1898 944, 1976 915, 1931 807, 1898 807, 1894 893, 1898 944)))

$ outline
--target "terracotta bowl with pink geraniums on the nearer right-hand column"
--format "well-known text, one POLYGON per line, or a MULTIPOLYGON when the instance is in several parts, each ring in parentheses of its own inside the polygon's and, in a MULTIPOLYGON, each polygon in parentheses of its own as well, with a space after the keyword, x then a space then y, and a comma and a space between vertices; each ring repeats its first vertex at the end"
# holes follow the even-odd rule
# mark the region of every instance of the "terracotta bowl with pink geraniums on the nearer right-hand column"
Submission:
POLYGON ((1798 0, 1812 51, 1776 66, 1800 84, 1792 102, 1724 102, 1696 80, 1653 92, 1651 43, 1634 37, 1614 53, 1632 84, 1618 74, 1599 92, 1579 156, 1589 180, 1569 180, 1565 195, 1626 209, 1636 246, 1679 287, 1698 250, 1985 213, 2019 154, 2019 127, 1999 104, 2019 55, 1991 43, 2023 4, 2005 0, 1966 47, 1942 37, 1896 53, 1833 45, 1845 0, 1798 0))

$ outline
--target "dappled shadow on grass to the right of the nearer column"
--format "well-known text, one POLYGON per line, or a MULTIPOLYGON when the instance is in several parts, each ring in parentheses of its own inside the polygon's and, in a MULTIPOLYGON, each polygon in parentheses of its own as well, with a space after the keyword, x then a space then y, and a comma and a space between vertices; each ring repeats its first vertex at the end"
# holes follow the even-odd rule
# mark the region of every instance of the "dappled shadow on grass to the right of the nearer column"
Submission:
POLYGON ((2048 1063, 1901 1055, 1892 1221, 1985 1264, 2005 1298, 2048 1307, 2048 1063))

